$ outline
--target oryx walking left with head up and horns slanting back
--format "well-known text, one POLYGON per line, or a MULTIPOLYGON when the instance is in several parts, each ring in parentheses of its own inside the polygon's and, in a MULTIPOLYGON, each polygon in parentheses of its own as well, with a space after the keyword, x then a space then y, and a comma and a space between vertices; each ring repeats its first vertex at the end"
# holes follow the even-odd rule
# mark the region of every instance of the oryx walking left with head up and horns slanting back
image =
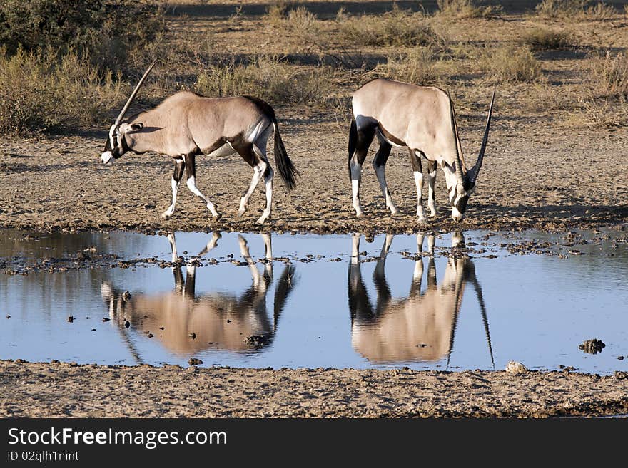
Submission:
POLYGON ((162 216, 174 213, 179 183, 186 169, 188 189, 207 204, 213 219, 221 217, 216 207, 196 187, 196 155, 226 156, 236 152, 253 167, 250 187, 240 199, 238 216, 246 211, 248 200, 263 177, 266 207, 257 220, 259 224, 270 216, 273 200, 273 169, 266 157, 266 142, 275 133, 275 162, 288 189, 295 187, 298 171, 285 152, 275 112, 268 103, 253 96, 206 98, 196 93, 181 91, 163 100, 156 108, 133 115, 122 121, 138 89, 155 63, 148 67, 116 122, 109 129, 109 137, 101 157, 108 164, 125 152, 154 151, 174 158, 172 176, 172 204, 162 216))

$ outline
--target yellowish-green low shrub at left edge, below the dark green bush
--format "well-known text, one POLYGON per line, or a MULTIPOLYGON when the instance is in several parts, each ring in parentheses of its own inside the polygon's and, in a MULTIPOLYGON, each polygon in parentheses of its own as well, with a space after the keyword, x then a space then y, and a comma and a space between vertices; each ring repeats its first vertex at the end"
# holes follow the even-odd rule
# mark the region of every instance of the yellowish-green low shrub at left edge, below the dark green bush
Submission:
POLYGON ((89 128, 126 97, 119 79, 69 50, 0 50, 0 133, 89 128))

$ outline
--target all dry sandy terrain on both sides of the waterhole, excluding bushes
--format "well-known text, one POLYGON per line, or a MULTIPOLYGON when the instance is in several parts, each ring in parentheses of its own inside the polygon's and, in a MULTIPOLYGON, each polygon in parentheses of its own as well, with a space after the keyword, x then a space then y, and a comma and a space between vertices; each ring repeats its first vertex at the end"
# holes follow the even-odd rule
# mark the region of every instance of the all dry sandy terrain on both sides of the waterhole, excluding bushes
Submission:
MULTIPOLYGON (((417 4, 397 2, 398 8, 415 11, 417 4)), ((373 147, 363 170, 365 216, 355 217, 351 207, 347 170, 351 91, 387 71, 406 76, 412 62, 400 59, 399 68, 394 68, 390 58, 410 54, 414 46, 395 41, 351 42, 343 36, 344 16, 338 9, 344 7, 343 14, 349 18, 365 13, 376 21, 393 9, 392 2, 296 2, 315 15, 306 18, 308 23, 285 15, 270 16, 266 13, 269 4, 263 2, 238 9, 231 1, 179 1, 168 7, 168 32, 157 51, 168 62, 187 50, 184 70, 177 75, 173 63, 161 64, 167 70, 156 71, 155 80, 146 85, 151 98, 139 99, 136 108, 156 102, 160 93, 185 87, 178 83, 181 76, 205 73, 211 77, 215 69, 205 61, 205 47, 242 61, 261 50, 285 58, 304 73, 331 67, 317 86, 320 93, 328 93, 323 97, 333 97, 333 103, 311 97, 303 103, 291 103, 296 98, 290 97, 278 104, 269 99, 288 154, 300 171, 297 188, 288 192, 275 178, 273 214, 260 227, 255 219, 263 210, 263 184, 255 191, 248 212, 237 217, 240 196, 252 176, 250 167, 236 156, 198 157, 198 187, 216 204, 222 218, 213 223, 204 204, 182 185, 176 212, 165 220, 160 214, 171 201, 171 158, 128 153, 111 166, 102 165, 107 124, 54 135, 3 135, 0 227, 410 233, 447 232, 454 227, 569 230, 625 224, 628 103, 623 91, 613 88, 615 81, 607 83, 602 96, 604 85, 599 77, 604 72, 599 71, 603 64, 598 62, 604 51, 614 56, 627 52, 624 2, 609 2, 615 10, 608 16, 554 18, 535 13, 535 1, 492 4, 503 8, 486 16, 430 19, 435 31, 443 28, 447 46, 439 42, 430 49, 434 55, 418 63, 433 68, 431 76, 419 76, 417 81, 447 88, 457 103, 467 165, 475 162, 490 93, 497 87, 485 162, 462 224, 451 220, 440 170, 437 217, 429 219, 428 226, 417 223, 416 189, 405 149, 393 150, 387 165, 390 192, 400 214, 391 217, 385 209, 370 167, 373 147), (566 31, 568 43, 533 48, 536 65, 532 68, 538 69, 532 78, 525 78, 525 73, 502 76, 506 72, 491 68, 491 57, 482 55, 485 48, 527 43, 527 34, 535 28, 566 31), (433 52, 441 47, 447 51, 433 52), (393 68, 386 68, 387 64, 393 68)), ((435 11, 435 4, 427 2, 425 8, 435 11)), ((492 59, 500 60, 496 55, 492 59)), ((628 77, 628 68, 625 73, 628 77)), ((624 83, 621 77, 618 83, 620 87, 624 83)), ((628 93, 628 78, 625 83, 628 93)), ((197 90, 207 92, 208 88, 198 84, 197 90)), ((117 113, 118 108, 111 108, 113 118, 117 113)), ((270 163, 274 165, 272 157, 270 163)), ((591 417, 628 413, 624 373, 600 377, 567 371, 123 368, 0 361, 0 375, 2 417, 591 417)))

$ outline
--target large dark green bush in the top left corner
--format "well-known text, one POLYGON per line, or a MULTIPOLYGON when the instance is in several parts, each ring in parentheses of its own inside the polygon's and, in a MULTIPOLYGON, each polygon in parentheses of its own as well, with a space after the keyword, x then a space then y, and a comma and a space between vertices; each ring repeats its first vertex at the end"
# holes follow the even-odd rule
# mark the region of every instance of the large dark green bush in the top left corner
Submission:
POLYGON ((71 47, 95 61, 119 61, 133 47, 153 41, 163 29, 156 1, 2 0, 0 43, 19 48, 71 47))

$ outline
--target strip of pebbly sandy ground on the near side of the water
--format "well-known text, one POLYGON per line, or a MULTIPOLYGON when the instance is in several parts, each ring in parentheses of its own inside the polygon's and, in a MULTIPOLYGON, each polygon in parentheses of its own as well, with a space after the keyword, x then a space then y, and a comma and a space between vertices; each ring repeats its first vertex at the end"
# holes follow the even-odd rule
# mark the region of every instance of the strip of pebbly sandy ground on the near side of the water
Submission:
POLYGON ((591 417, 627 373, 132 368, 0 361, 1 417, 591 417))

